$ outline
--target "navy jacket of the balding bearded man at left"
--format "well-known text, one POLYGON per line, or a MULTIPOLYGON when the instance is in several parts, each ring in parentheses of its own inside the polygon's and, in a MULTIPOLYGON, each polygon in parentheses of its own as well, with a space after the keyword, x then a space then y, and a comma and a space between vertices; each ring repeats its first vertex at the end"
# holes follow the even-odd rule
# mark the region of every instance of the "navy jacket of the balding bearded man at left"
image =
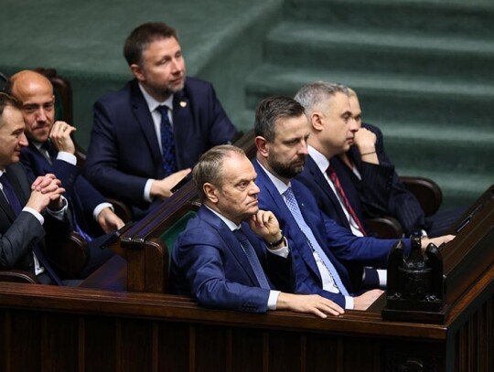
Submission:
POLYGON ((70 165, 62 160, 54 160, 50 165, 33 143, 29 143, 22 149, 20 158, 33 180, 38 175, 47 173, 52 173, 59 178, 62 187, 66 190, 64 196, 69 200, 70 209, 75 213, 81 229, 87 233, 100 230, 92 213, 95 207, 106 200, 83 175, 79 175, 79 168, 76 165, 70 165))

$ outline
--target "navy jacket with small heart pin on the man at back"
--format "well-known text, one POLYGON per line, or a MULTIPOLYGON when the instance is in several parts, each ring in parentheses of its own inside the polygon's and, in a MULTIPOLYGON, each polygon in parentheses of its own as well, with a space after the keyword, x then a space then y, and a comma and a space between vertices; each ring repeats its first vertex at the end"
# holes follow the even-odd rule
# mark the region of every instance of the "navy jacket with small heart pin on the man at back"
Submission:
MULTIPOLYGON (((210 147, 237 135, 212 85, 194 78, 187 78, 184 90, 174 96, 173 131, 178 169, 192 167, 210 147)), ((151 113, 136 80, 94 104, 86 176, 103 195, 134 206, 136 215, 149 207, 143 199, 146 181, 166 176, 151 113)))

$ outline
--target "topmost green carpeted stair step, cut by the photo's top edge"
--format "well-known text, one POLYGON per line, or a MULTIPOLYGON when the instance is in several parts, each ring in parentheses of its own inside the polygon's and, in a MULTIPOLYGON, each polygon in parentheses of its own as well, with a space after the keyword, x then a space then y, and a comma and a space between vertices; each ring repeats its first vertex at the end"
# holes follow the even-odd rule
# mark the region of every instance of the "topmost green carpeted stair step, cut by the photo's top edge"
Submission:
POLYGON ((489 0, 288 0, 285 16, 333 27, 494 36, 494 3, 489 0))

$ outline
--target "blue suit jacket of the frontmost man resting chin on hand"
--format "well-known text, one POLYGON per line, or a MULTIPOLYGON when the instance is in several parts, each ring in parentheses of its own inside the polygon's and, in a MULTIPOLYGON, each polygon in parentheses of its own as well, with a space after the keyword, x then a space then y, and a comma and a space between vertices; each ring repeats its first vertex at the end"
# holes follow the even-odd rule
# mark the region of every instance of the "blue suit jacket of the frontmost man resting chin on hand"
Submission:
MULTIPOLYGON (((272 287, 291 290, 287 287, 291 260, 267 253, 247 223, 242 223, 242 230, 272 287)), ((207 207, 200 207, 198 216, 178 236, 170 278, 172 292, 191 295, 204 306, 255 313, 267 310, 269 290, 259 287, 239 240, 207 207)))

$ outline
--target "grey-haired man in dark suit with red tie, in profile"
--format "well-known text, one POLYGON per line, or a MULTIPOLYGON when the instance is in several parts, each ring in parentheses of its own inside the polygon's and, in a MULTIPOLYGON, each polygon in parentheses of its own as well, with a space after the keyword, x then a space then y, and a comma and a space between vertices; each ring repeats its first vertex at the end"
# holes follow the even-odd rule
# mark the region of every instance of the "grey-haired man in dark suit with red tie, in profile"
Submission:
POLYGON ((345 172, 345 165, 334 157, 349 150, 359 131, 349 105, 349 90, 340 84, 318 81, 299 90, 295 101, 306 109, 310 129, 306 166, 296 179, 312 192, 319 208, 338 225, 359 237, 372 235, 365 226, 359 191, 345 172))

